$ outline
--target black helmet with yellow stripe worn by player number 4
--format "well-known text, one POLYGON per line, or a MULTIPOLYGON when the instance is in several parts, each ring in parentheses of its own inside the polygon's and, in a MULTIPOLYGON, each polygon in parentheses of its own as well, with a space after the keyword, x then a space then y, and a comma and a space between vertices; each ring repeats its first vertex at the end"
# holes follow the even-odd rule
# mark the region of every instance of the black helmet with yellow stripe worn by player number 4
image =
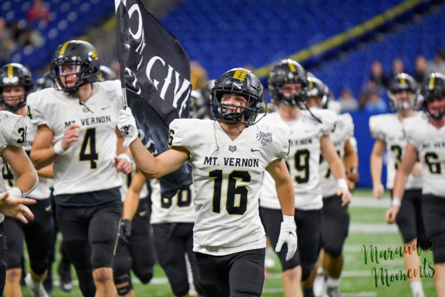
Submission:
MULTIPOLYGON (((61 44, 51 61, 51 80, 54 89, 74 95, 83 85, 97 82, 100 74, 100 61, 96 49, 86 41, 72 40, 61 44), (75 76, 79 78, 76 85, 65 87, 62 84, 62 65, 73 65, 75 76)), ((66 76, 66 75, 65 75, 66 76)))

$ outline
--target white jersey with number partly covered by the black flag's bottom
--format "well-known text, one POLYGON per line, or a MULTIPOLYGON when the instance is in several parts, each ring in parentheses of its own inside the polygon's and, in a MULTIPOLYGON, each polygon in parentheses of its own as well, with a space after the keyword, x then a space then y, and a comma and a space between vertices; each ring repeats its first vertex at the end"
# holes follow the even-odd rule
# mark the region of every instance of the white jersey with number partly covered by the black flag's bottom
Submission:
POLYGON ((193 207, 193 184, 186 190, 178 191, 172 198, 161 195, 159 180, 151 179, 151 224, 162 223, 193 223, 195 208, 193 207))

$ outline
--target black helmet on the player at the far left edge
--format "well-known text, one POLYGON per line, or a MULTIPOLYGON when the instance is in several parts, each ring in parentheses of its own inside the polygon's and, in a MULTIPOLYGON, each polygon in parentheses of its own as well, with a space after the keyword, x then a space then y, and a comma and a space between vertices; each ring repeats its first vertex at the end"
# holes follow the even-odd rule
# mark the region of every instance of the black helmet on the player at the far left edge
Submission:
POLYGON ((9 111, 17 111, 26 105, 26 98, 33 92, 34 83, 31 72, 19 63, 6 64, 0 68, 0 103, 9 111), (22 86, 25 94, 18 98, 15 104, 8 104, 3 98, 3 88, 6 86, 22 86))

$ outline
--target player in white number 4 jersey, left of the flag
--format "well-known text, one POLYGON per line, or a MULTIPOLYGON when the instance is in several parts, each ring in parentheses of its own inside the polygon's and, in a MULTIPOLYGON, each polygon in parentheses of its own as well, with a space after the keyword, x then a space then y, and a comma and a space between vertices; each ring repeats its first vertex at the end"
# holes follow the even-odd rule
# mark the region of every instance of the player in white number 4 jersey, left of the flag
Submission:
POLYGON ((118 81, 97 82, 96 49, 84 41, 60 45, 51 61, 54 88, 28 97, 37 126, 31 159, 37 169, 54 162, 57 225, 84 296, 117 296, 113 249, 122 215, 119 172, 129 154, 115 129, 122 104, 118 81))

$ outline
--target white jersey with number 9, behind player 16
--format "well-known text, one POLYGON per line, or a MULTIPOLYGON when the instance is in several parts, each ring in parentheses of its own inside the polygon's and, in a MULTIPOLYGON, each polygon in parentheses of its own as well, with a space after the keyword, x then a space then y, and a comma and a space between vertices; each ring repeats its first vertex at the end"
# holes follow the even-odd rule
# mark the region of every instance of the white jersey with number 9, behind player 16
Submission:
MULTIPOLYGON (((267 114, 264 119, 290 130, 290 150, 286 162, 294 184, 295 208, 301 210, 323 207, 319 176, 320 138, 331 134, 337 119, 337 115, 331 110, 311 111, 321 119, 321 124, 307 110, 301 110, 297 119, 290 122, 285 122, 277 111, 267 114)), ((260 205, 272 209, 280 208, 275 183, 267 172, 262 184, 260 205)))

